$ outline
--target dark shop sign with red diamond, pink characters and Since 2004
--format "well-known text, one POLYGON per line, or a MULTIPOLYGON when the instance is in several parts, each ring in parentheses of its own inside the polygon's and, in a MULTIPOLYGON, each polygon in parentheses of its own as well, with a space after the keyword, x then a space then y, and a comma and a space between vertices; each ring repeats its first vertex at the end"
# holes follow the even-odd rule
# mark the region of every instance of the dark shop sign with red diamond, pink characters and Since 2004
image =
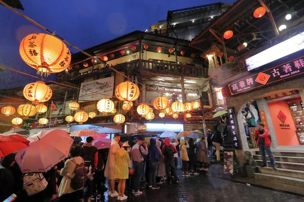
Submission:
POLYGON ((228 84, 232 95, 247 92, 304 73, 304 56, 228 84))

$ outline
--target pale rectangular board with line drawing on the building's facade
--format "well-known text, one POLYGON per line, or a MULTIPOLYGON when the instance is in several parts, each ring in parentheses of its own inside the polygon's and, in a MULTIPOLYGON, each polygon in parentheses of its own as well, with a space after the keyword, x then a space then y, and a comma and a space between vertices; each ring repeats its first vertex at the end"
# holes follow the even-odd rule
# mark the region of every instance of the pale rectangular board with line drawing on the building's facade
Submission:
POLYGON ((104 97, 112 97, 114 91, 114 77, 107 77, 94 81, 81 83, 79 102, 99 100, 104 97), (97 92, 97 93, 96 93, 97 92))

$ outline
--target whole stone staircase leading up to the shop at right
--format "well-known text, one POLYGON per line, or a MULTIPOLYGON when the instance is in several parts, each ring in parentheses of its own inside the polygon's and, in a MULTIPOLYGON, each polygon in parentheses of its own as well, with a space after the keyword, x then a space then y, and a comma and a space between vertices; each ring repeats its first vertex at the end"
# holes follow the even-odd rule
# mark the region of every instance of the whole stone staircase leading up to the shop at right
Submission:
MULTIPOLYGON (((278 169, 272 168, 269 157, 266 156, 269 167, 260 167, 259 173, 254 174, 255 179, 304 187, 304 153, 289 151, 273 151, 272 153, 278 169)), ((252 156, 261 166, 262 158, 259 151, 255 151, 252 156)))

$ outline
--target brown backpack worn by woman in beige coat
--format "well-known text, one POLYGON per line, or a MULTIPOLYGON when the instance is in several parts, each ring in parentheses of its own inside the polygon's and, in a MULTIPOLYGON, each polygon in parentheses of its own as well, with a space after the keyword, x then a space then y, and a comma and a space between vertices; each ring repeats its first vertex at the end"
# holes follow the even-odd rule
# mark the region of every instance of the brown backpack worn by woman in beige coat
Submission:
POLYGON ((71 179, 70 186, 72 189, 78 190, 84 187, 87 176, 87 168, 83 162, 81 164, 77 164, 74 159, 71 159, 71 161, 76 165, 76 167, 74 169, 75 176, 71 179))

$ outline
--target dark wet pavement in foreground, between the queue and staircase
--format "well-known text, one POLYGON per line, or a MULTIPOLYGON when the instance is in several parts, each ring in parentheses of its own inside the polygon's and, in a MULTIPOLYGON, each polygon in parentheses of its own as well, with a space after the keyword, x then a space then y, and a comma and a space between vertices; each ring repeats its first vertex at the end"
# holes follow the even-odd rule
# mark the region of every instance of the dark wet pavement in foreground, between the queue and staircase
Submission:
MULTIPOLYGON (((108 198, 107 192, 100 201, 117 201, 117 198, 108 198)), ((140 196, 128 194, 126 201, 158 201, 158 202, 233 202, 233 201, 304 201, 304 197, 288 193, 264 189, 261 187, 247 186, 228 180, 214 178, 206 174, 199 176, 181 177, 179 184, 164 184, 159 190, 144 189, 140 196)))

